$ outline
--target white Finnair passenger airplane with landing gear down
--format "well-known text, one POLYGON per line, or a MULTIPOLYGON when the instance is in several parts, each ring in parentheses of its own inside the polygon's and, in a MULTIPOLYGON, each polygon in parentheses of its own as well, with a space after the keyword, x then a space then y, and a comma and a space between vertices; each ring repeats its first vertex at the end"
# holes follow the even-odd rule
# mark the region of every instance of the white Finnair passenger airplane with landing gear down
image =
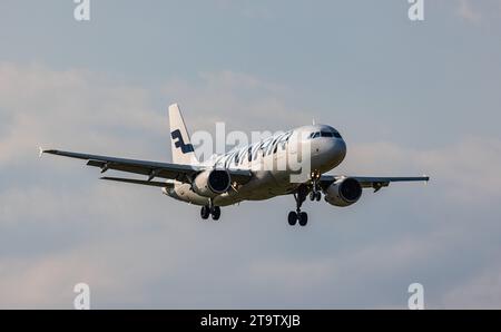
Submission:
MULTIPOLYGON (((191 145, 185 120, 177 104, 168 107, 173 163, 125 159, 40 148, 42 154, 87 160, 88 166, 99 167, 101 174, 118 170, 146 176, 146 178, 101 177, 110 182, 136 184, 161 188, 161 192, 175 199, 198 205, 200 217, 214 221, 220 217, 220 207, 235 205, 244 201, 265 201, 281 195, 293 195, 296 208, 291 211, 287 222, 306 226, 308 215, 302 205, 310 196, 333 206, 346 207, 355 204, 363 188, 379 192, 391 183, 429 182, 429 176, 418 177, 367 177, 330 175, 346 156, 346 143, 340 131, 327 125, 311 125, 278 133, 261 141, 237 147, 223 155, 213 155, 200 163, 191 145), (293 144, 293 138, 297 144, 293 144), (311 173, 302 183, 292 180, 289 165, 278 169, 256 167, 263 163, 276 165, 291 158, 299 150, 310 152, 311 173), (274 164, 275 163, 275 164, 274 164), (155 179, 163 180, 155 180, 155 179)), ((283 163, 284 164, 284 163, 283 163)), ((287 163, 285 163, 287 164, 287 163)), ((301 170, 301 169, 299 169, 301 170)))

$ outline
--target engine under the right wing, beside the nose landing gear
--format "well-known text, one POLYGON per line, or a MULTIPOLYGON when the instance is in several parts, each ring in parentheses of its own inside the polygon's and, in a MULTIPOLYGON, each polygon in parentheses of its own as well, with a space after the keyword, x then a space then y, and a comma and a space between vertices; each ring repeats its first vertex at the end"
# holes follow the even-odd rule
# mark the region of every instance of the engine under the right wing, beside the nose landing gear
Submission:
POLYGON ((334 206, 350 206, 362 196, 362 185, 354 178, 336 180, 324 191, 325 202, 334 206))

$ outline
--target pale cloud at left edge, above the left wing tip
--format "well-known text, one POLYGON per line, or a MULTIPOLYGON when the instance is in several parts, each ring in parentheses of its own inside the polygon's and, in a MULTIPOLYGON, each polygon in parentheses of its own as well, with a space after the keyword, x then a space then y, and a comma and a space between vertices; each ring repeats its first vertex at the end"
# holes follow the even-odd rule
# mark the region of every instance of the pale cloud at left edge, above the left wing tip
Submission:
MULTIPOLYGON (((85 141, 90 148, 124 150, 125 130, 161 133, 167 126, 166 115, 147 104, 145 89, 86 70, 0 62, 0 99, 7 120, 0 165, 26 159, 40 145, 69 147, 85 141)), ((132 139, 128 144, 140 146, 132 139)))

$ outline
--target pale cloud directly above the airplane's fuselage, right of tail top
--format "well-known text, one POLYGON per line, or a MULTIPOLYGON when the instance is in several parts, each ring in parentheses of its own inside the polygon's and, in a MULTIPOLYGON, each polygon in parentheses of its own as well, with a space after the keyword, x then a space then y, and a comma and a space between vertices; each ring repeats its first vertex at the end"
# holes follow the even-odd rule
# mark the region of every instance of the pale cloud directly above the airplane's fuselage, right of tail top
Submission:
POLYGON ((305 110, 287 102, 294 96, 291 88, 242 72, 225 70, 202 72, 196 80, 170 79, 163 92, 179 101, 186 116, 191 111, 204 114, 203 118, 190 118, 196 129, 207 129, 216 121, 227 121, 235 129, 283 129, 311 120, 305 110))

